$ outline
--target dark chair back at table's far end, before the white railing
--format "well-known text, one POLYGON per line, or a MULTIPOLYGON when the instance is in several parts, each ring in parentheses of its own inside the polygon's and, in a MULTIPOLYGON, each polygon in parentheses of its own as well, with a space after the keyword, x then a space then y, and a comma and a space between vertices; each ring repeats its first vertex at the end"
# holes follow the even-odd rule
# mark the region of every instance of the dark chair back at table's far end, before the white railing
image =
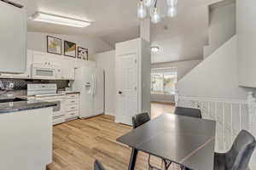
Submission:
POLYGON ((201 118, 201 110, 193 109, 193 108, 186 108, 186 107, 175 107, 174 111, 175 115, 179 116, 190 116, 195 118, 201 118))

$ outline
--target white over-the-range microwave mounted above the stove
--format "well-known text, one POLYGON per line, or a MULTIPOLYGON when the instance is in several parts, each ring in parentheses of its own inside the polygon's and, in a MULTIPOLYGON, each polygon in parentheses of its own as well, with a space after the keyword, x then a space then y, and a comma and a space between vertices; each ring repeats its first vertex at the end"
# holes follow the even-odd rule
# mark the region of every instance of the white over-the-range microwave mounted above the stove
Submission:
POLYGON ((32 78, 59 79, 61 78, 61 69, 57 65, 33 64, 32 78))

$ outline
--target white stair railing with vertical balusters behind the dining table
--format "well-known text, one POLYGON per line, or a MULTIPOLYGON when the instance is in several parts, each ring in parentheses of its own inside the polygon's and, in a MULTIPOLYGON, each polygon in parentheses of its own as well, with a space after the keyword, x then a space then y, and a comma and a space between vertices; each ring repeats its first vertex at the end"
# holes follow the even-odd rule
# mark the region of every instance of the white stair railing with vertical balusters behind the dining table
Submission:
MULTIPOLYGON (((249 93, 247 100, 218 99, 204 97, 176 96, 176 105, 199 108, 203 118, 214 120, 216 126, 217 152, 230 150, 231 144, 242 129, 256 137, 256 100, 249 93)), ((251 169, 256 169, 256 150, 250 162, 251 169)))

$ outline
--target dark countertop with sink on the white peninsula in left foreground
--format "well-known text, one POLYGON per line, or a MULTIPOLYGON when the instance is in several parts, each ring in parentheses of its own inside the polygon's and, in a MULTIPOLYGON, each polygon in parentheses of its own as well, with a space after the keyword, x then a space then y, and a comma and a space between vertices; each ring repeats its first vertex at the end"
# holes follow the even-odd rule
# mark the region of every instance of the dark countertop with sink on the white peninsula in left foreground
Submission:
POLYGON ((53 107, 56 104, 29 99, 26 101, 0 103, 0 114, 53 107))

